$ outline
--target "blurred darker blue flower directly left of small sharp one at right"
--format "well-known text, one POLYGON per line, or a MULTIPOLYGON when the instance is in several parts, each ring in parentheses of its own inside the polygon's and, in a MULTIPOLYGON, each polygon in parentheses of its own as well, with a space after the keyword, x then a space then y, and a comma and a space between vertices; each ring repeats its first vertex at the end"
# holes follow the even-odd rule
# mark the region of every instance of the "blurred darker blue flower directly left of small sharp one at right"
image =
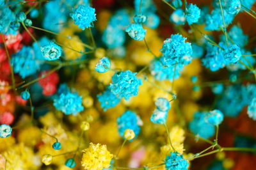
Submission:
POLYGON ((202 65, 210 68, 212 72, 219 70, 225 66, 223 50, 214 45, 207 45, 206 55, 202 59, 202 65))

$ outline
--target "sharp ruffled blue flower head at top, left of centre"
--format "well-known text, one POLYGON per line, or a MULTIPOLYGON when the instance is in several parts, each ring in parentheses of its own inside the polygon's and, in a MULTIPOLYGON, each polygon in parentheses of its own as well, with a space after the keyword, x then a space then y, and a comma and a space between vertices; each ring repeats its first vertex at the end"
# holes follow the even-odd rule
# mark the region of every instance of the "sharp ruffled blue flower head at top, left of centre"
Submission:
POLYGON ((83 30, 87 27, 93 27, 93 21, 96 20, 95 8, 80 4, 77 8, 73 9, 70 17, 83 30))

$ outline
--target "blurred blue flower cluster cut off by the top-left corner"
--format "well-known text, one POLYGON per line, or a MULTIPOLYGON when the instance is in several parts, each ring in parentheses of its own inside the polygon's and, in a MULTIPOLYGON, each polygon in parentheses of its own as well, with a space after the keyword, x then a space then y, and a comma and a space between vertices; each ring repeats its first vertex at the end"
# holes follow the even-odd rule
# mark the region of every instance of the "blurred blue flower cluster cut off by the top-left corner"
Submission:
POLYGON ((11 22, 15 20, 15 14, 9 7, 6 7, 4 1, 0 1, 0 8, 0 33, 15 35, 16 31, 10 27, 11 22))

